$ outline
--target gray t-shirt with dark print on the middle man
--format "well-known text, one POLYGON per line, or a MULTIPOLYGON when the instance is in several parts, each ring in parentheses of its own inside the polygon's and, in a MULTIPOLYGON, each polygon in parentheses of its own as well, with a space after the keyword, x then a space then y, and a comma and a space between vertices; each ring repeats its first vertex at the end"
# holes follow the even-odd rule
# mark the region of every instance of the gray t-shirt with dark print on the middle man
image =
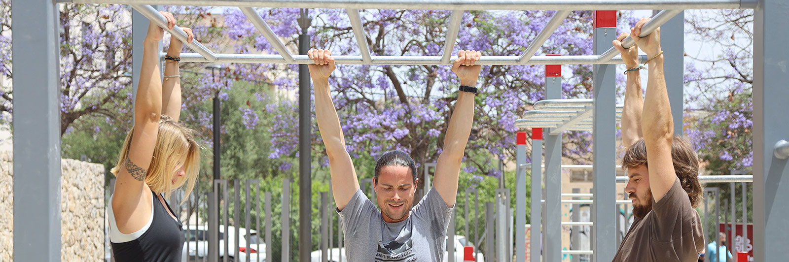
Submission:
POLYGON ((447 208, 436 188, 430 189, 411 208, 409 217, 398 223, 384 222, 381 212, 361 189, 338 213, 348 262, 440 262, 443 259, 452 208, 447 208))

